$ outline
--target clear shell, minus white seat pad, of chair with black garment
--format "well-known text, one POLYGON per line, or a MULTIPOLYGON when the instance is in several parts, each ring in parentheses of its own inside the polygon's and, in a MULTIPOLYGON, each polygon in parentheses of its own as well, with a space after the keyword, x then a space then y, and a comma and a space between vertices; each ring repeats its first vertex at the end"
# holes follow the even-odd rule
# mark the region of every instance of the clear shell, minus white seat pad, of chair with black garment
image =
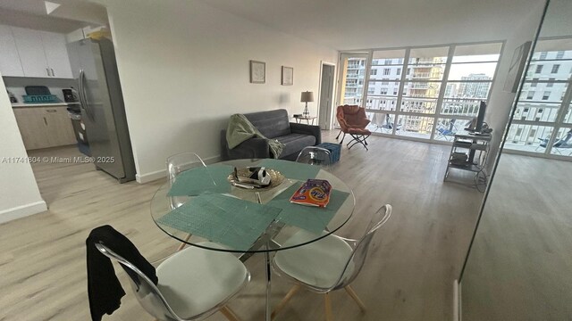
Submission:
MULTIPOLYGON (((228 297, 226 297, 222 302, 217 304, 214 308, 209 309, 198 316, 193 316, 190 318, 183 318, 180 317, 173 311, 169 302, 165 299, 163 293, 157 288, 156 284, 154 284, 139 268, 134 266, 130 261, 124 259, 121 255, 115 253, 114 251, 107 248, 102 243, 96 243, 96 248, 102 254, 104 254, 107 258, 112 259, 123 267, 129 268, 131 271, 137 274, 138 280, 133 280, 131 277, 128 277, 131 290, 135 294, 135 297, 139 301, 139 304, 149 313, 151 316, 156 317, 158 320, 164 321, 190 321, 190 320, 197 320, 199 318, 205 318, 211 316, 216 311, 220 310, 221 313, 225 317, 227 317, 231 321, 240 321, 239 317, 228 307, 226 307, 226 302, 231 300, 238 292, 240 292, 250 281, 250 273, 247 270, 246 277, 243 281, 242 286, 236 291, 231 293, 228 297)), ((176 255, 176 254, 174 254, 176 255)))

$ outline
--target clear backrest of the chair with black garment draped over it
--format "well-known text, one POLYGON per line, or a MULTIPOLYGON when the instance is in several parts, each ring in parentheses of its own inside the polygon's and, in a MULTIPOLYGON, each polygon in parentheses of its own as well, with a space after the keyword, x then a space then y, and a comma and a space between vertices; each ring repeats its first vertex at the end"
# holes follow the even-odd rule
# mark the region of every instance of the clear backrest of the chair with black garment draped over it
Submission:
POLYGON ((183 320, 174 313, 167 300, 165 300, 163 294, 159 291, 156 285, 139 270, 139 268, 135 267, 127 259, 123 259, 119 254, 105 247, 102 243, 96 243, 96 247, 97 250, 107 258, 112 259, 121 264, 124 268, 129 268, 131 271, 135 272, 135 274, 131 274, 130 277, 128 277, 131 289, 133 290, 133 293, 135 293, 135 297, 139 301, 139 304, 151 316, 156 317, 159 320, 183 320), (135 279, 132 279, 131 277, 135 277, 135 279))

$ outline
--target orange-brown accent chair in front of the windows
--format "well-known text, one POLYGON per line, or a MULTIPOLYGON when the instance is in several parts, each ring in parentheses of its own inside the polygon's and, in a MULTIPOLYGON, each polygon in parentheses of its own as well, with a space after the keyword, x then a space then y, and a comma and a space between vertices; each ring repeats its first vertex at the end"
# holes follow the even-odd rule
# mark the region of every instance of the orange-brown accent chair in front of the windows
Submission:
POLYGON ((343 144, 343 140, 346 134, 352 137, 352 140, 348 143, 348 149, 351 149, 356 144, 362 144, 367 149, 367 137, 369 137, 372 132, 366 129, 367 124, 369 124, 369 119, 366 116, 366 110, 363 107, 357 105, 343 105, 338 106, 336 111, 336 118, 340 124, 341 130, 336 139, 338 139, 343 132, 343 137, 341 137, 340 144, 343 144))

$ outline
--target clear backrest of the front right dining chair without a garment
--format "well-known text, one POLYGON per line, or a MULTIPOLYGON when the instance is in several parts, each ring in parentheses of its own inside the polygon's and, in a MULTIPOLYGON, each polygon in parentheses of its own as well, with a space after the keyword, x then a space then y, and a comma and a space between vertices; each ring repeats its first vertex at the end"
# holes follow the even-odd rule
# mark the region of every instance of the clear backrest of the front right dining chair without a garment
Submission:
POLYGON ((351 251, 346 267, 341 273, 338 282, 332 286, 331 290, 341 289, 348 286, 359 274, 361 268, 364 267, 366 262, 367 251, 372 242, 375 232, 387 222, 391 217, 391 205, 385 204, 377 210, 367 225, 366 234, 362 236, 356 244, 356 247, 351 251), (350 270, 351 269, 351 270, 350 270), (351 273, 349 273, 349 270, 351 273))

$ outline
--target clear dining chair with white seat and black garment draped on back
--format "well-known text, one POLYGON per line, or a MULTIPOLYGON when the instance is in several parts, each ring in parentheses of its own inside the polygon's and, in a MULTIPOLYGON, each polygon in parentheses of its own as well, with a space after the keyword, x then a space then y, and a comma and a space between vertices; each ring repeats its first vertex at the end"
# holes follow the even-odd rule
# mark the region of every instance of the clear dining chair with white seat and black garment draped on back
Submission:
POLYGON ((135 273, 131 274, 135 280, 128 277, 131 289, 143 309, 157 320, 197 320, 219 310, 231 321, 240 320, 226 302, 248 284, 250 273, 231 253, 195 246, 178 251, 156 268, 158 283, 154 284, 139 268, 104 244, 96 243, 96 247, 135 273))

